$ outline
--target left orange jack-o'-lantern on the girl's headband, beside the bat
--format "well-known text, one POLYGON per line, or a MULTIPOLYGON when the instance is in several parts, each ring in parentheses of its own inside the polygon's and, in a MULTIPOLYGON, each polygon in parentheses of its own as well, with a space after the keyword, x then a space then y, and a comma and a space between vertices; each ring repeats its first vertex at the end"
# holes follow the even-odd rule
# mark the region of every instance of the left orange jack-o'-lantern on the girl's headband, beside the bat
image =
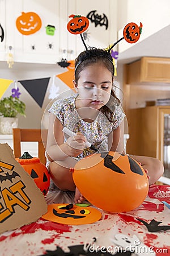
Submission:
POLYGON ((85 16, 71 14, 69 18, 73 18, 67 23, 67 30, 71 34, 82 34, 87 30, 89 20, 85 16))

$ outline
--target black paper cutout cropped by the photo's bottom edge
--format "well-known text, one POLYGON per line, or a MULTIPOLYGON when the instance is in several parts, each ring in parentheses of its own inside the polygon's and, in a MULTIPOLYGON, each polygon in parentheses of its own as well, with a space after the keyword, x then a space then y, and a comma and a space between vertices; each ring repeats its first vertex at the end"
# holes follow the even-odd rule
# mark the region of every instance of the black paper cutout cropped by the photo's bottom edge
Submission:
MULTIPOLYGON (((87 251, 84 251, 84 245, 73 245, 73 246, 68 246, 70 251, 69 253, 65 253, 65 251, 63 251, 61 249, 61 247, 57 246, 57 249, 55 251, 51 251, 51 250, 46 250, 46 256, 113 256, 113 254, 108 253, 107 249, 105 249, 105 253, 103 253, 103 251, 90 251, 89 249, 87 251)), ((39 256, 43 256, 43 255, 39 255, 39 256)), ((121 251, 118 252, 116 254, 114 254, 116 256, 131 256, 131 252, 130 251, 121 251)))

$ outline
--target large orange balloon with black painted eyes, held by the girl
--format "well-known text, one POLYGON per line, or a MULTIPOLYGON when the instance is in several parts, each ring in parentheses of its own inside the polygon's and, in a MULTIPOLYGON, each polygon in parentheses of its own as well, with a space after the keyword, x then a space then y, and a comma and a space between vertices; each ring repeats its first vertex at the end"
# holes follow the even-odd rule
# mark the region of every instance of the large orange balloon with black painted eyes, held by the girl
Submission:
POLYGON ((148 193, 148 179, 135 160, 118 152, 92 154, 75 164, 73 179, 82 195, 108 212, 137 208, 148 193))

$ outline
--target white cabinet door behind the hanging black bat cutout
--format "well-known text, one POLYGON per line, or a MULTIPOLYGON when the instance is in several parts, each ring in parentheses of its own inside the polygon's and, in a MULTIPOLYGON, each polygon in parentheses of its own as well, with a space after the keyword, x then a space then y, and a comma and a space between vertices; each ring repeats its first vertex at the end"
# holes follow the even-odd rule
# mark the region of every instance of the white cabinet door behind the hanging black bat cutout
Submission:
MULTIPOLYGON (((91 13, 90 25, 85 32, 87 39, 84 40, 87 47, 106 48, 116 42, 117 16, 114 10, 116 10, 117 5, 115 0, 105 0, 100 1, 100 3, 98 0, 86 0, 85 2, 83 0, 69 0, 68 5, 69 14, 87 16, 91 13)), ((75 56, 84 51, 85 47, 80 35, 68 35, 68 48, 74 49, 75 56)))

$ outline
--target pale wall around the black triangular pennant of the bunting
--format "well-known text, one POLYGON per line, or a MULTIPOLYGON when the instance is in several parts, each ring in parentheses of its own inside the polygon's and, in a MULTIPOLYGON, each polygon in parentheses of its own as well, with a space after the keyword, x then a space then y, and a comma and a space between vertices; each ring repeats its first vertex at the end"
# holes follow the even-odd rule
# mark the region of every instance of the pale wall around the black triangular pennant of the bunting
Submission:
MULTIPOLYGON (((53 76, 65 72, 67 69, 60 68, 58 64, 47 65, 47 64, 29 64, 29 63, 15 63, 12 69, 7 68, 7 63, 0 61, 0 77, 3 79, 11 80, 29 80, 29 79, 40 79, 45 77, 51 77, 49 80, 48 89, 46 90, 44 102, 42 108, 36 103, 31 95, 24 89, 24 87, 18 82, 18 87, 20 93, 20 100, 24 101, 26 104, 26 115, 27 117, 19 117, 19 127, 20 128, 40 128, 41 118, 44 114, 46 106, 49 102, 49 90, 52 85, 53 76)), ((69 87, 65 85, 58 77, 55 78, 55 85, 59 86, 58 93, 62 93, 68 90, 69 87)), ((11 89, 14 88, 14 83, 12 83, 5 94, 2 97, 8 97, 11 95, 11 89)))

